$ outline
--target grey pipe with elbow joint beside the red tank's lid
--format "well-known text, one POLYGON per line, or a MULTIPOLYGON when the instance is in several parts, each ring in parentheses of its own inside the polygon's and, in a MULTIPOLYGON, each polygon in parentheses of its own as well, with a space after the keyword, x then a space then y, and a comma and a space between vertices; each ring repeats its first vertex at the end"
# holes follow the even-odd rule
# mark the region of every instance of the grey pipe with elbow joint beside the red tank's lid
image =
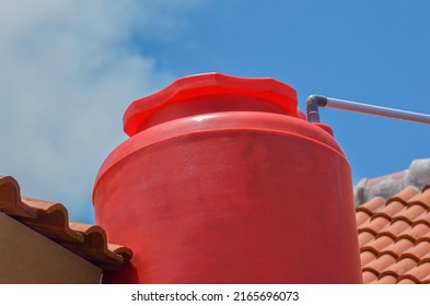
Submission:
MULTIPOLYGON (((376 105, 362 104, 362 103, 358 103, 358 102, 339 99, 339 98, 334 98, 334 97, 322 97, 322 96, 312 95, 307 98, 306 106, 307 106, 307 103, 312 104, 312 102, 315 101, 315 97, 316 97, 316 102, 319 102, 319 103, 316 103, 316 105, 322 106, 322 107, 330 107, 330 108, 336 108, 336 109, 344 109, 344 110, 350 110, 350 111, 357 111, 357 113, 362 113, 362 114, 370 114, 370 115, 375 115, 375 116, 382 116, 382 117, 388 117, 388 118, 394 118, 394 119, 408 120, 408 121, 430 125, 430 115, 427 115, 427 114, 400 110, 400 109, 382 107, 382 106, 376 106, 376 105)), ((316 113, 316 116, 319 118, 319 116, 317 115, 318 114, 317 109, 316 110, 313 109, 312 111, 316 113)), ((316 116, 315 116, 315 114, 313 114, 313 115, 309 116, 307 120, 310 122, 319 122, 319 120, 312 121, 316 116)))

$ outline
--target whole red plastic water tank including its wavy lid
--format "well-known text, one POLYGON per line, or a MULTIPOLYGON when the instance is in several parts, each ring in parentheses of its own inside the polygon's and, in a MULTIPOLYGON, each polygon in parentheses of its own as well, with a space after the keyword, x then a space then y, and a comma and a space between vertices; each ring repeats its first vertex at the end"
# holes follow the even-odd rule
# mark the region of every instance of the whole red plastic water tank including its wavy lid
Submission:
POLYGON ((361 283, 348 161, 274 79, 176 80, 133 102, 93 202, 130 247, 112 283, 361 283))

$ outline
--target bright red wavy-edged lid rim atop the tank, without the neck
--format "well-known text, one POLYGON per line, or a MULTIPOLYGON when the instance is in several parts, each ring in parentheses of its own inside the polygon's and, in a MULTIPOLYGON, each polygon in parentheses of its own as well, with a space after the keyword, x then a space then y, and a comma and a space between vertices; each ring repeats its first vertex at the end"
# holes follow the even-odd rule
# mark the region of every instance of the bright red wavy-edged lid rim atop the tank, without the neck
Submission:
MULTIPOLYGON (((124 131, 133 136, 160 108, 179 101, 217 95, 240 95, 268 101, 286 114, 304 118, 298 109, 295 90, 271 78, 239 78, 218 72, 194 74, 177 79, 167 87, 137 99, 124 114, 124 131)), ((246 109, 244 109, 246 110, 246 109)))

